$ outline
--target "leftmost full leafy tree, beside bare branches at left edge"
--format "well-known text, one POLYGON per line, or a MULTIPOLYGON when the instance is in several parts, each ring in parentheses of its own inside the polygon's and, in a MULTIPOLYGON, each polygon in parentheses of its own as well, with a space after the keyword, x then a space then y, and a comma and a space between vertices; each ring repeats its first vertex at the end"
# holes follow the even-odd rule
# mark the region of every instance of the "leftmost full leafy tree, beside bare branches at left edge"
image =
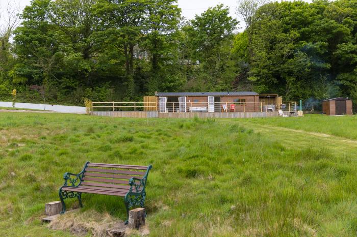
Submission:
POLYGON ((31 84, 42 84, 56 78, 59 48, 53 25, 49 23, 49 0, 34 0, 25 7, 16 28, 14 41, 21 62, 14 74, 29 78, 31 84))

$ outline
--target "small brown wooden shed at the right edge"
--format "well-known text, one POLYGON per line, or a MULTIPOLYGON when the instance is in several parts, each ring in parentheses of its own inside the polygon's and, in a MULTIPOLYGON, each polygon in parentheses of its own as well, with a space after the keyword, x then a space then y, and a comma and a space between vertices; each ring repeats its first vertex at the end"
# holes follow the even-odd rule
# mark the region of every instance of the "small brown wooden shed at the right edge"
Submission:
POLYGON ((352 115, 352 100, 343 97, 324 100, 322 112, 327 115, 352 115))

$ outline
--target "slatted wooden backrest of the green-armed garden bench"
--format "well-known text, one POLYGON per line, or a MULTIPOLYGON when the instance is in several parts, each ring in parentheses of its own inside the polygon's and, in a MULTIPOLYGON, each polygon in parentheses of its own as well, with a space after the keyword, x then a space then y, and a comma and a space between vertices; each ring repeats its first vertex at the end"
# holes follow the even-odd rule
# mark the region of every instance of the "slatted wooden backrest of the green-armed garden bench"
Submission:
POLYGON ((147 176, 150 168, 151 166, 141 165, 87 163, 84 167, 81 184, 107 188, 127 186, 129 189, 129 180, 132 177, 143 179, 147 176))

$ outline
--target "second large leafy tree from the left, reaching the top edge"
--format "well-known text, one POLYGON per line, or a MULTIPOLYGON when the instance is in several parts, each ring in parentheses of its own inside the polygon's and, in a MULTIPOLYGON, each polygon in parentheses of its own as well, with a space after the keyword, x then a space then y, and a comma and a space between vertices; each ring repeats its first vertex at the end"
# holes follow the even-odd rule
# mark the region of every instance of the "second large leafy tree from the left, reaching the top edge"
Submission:
POLYGON ((49 5, 50 22, 65 45, 60 49, 65 52, 64 63, 75 72, 73 77, 82 78, 87 86, 93 85, 92 59, 100 48, 94 39, 97 19, 91 8, 95 3, 95 0, 56 0, 49 5))

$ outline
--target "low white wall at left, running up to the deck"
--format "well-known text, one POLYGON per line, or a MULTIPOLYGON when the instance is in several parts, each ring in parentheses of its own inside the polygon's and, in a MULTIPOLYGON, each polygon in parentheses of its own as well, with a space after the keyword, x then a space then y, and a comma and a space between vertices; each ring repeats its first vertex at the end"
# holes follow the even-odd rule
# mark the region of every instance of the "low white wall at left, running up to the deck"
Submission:
MULTIPOLYGON (((12 108, 12 102, 0 102, 0 107, 12 108)), ((86 113, 86 107, 80 106, 65 106, 65 105, 50 105, 50 104, 30 104, 30 103, 15 103, 15 108, 21 109, 40 109, 51 110, 62 113, 86 113)))

